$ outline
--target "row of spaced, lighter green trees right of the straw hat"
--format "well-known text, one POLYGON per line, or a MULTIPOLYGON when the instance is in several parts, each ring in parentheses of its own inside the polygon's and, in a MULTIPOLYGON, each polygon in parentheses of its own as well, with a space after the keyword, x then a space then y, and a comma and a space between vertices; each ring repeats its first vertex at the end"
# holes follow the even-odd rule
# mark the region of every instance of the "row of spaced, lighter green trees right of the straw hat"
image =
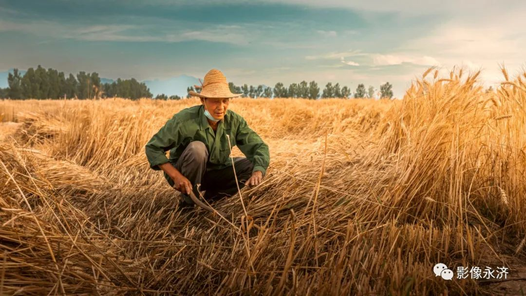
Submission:
MULTIPOLYGON (((365 85, 359 84, 356 88, 355 93, 352 93, 351 89, 348 86, 341 87, 339 83, 332 84, 327 83, 325 88, 320 94, 320 88, 316 81, 307 81, 303 80, 300 83, 292 83, 289 87, 285 87, 284 84, 278 82, 274 88, 265 87, 263 85, 248 86, 244 84, 242 86, 236 86, 234 83, 228 83, 230 91, 234 94, 242 94, 242 97, 247 98, 307 98, 307 99, 318 99, 318 98, 375 98, 375 87, 369 86, 366 90, 365 85)), ((187 92, 190 90, 196 91, 199 93, 200 88, 195 89, 193 86, 186 89, 187 92)), ((190 95, 186 96, 187 98, 190 95)), ((392 85, 390 83, 385 83, 380 86, 380 98, 389 98, 393 97, 392 85)))

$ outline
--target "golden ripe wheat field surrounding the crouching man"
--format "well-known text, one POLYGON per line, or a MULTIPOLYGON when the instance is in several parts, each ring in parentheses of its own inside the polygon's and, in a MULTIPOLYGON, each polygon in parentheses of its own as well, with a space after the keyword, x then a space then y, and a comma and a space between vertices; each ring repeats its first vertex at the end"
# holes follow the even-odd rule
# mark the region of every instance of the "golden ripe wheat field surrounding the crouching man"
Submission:
POLYGON ((526 73, 503 74, 489 93, 430 69, 401 100, 232 99, 271 161, 213 203, 231 220, 179 211, 145 156, 196 98, 0 101, 0 294, 520 295, 526 73))

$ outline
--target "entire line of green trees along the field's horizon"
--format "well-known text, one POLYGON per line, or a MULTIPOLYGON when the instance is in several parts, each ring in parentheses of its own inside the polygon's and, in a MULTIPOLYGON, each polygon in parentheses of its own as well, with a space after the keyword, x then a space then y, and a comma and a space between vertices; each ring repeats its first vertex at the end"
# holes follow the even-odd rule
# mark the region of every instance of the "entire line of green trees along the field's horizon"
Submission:
MULTIPOLYGON (((55 69, 45 69, 38 65, 36 69, 29 68, 22 75, 18 69, 9 73, 7 77, 7 88, 0 88, 0 98, 13 99, 57 99, 57 98, 77 98, 77 99, 97 99, 106 97, 121 97, 129 99, 152 98, 149 88, 145 83, 137 81, 135 78, 120 79, 112 83, 101 83, 98 73, 79 72, 76 76, 69 74, 67 77, 63 72, 55 69)), ((375 98, 376 89, 359 84, 353 93, 348 86, 340 86, 339 83, 327 83, 321 90, 316 81, 303 80, 300 83, 292 83, 285 87, 283 83, 276 83, 274 88, 263 85, 253 86, 244 84, 236 86, 234 83, 228 84, 230 91, 235 94, 242 94, 249 98, 375 98)), ((200 89, 193 86, 187 88, 199 93, 200 89)), ((379 98, 392 98, 392 85, 385 83, 380 86, 379 98)), ((190 95, 187 95, 187 98, 190 95)), ((177 95, 159 94, 155 99, 181 99, 177 95)))

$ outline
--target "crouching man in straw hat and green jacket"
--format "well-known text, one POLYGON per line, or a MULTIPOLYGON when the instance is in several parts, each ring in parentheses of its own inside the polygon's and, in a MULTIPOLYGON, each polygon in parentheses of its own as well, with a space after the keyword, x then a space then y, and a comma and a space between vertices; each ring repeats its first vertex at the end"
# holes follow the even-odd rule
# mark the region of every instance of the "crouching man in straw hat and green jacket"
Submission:
POLYGON ((259 185, 270 162, 268 145, 245 119, 228 110, 230 98, 242 94, 232 94, 217 69, 206 74, 200 87, 200 93, 189 93, 200 97, 201 104, 179 111, 146 144, 150 168, 164 171, 169 185, 181 192, 182 207, 194 206, 188 195, 193 190, 199 197, 197 184, 207 200, 234 195, 236 178, 239 188, 259 185), (229 157, 234 146, 246 156, 234 158, 235 173, 229 157))

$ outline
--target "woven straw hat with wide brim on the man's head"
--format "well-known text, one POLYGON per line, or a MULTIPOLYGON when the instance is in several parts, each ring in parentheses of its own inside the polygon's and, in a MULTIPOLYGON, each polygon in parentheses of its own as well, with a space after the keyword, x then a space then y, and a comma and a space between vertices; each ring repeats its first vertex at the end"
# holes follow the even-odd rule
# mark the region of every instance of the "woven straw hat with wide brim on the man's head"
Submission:
MULTIPOLYGON (((201 82, 201 79, 199 79, 199 82, 201 82)), ((232 94, 228 87, 227 78, 218 69, 208 71, 201 85, 194 85, 194 87, 196 89, 201 88, 201 92, 198 94, 190 90, 188 93, 200 98, 233 98, 242 95, 232 94)))

